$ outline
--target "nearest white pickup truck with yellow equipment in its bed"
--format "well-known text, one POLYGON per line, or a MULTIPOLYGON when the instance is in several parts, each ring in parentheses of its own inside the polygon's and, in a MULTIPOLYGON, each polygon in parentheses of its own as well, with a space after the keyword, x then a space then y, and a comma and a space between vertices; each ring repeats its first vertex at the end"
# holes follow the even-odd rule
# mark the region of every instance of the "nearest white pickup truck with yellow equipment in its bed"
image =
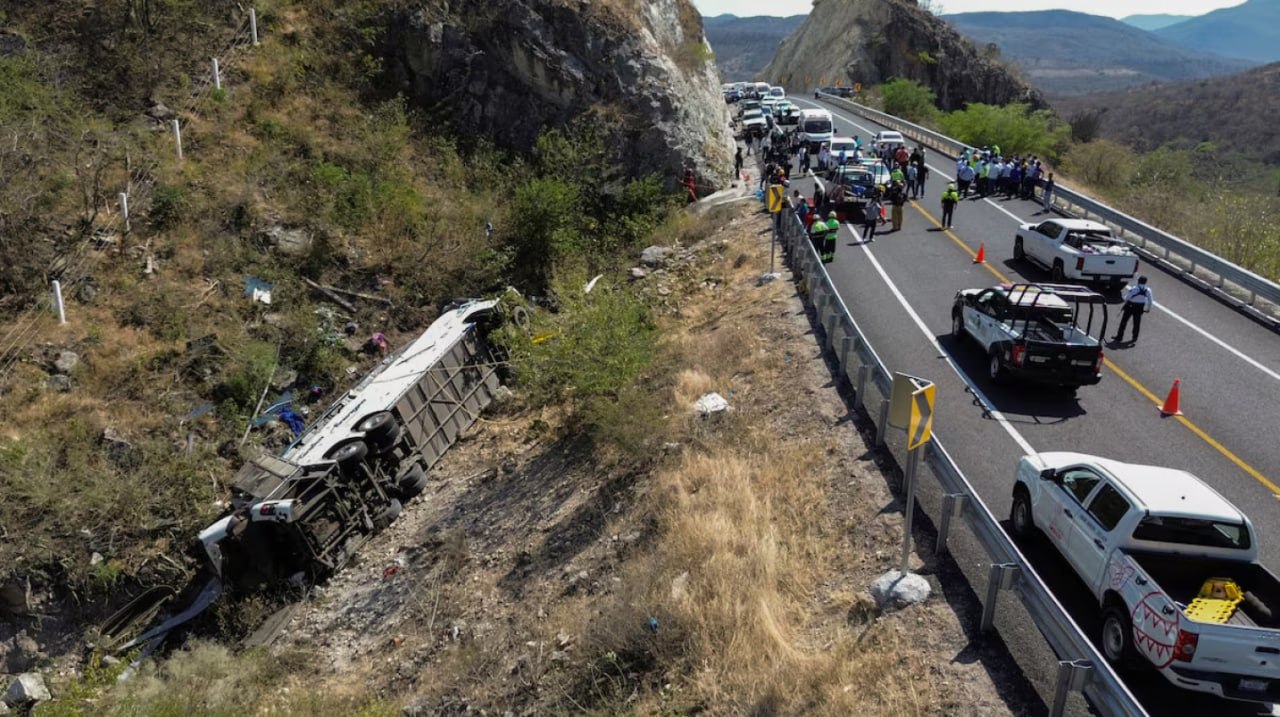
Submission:
POLYGON ((1253 525, 1194 475, 1083 453, 1018 463, 1016 535, 1043 533, 1102 608, 1117 667, 1175 686, 1280 702, 1280 579, 1257 562, 1253 525))

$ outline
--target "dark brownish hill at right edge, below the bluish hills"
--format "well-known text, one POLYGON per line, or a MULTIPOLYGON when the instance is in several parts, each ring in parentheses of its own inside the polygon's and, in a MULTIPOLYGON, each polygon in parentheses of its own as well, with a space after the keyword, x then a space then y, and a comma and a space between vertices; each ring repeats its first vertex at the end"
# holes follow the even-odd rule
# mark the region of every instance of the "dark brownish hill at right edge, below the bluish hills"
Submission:
POLYGON ((1280 164, 1280 63, 1233 77, 1135 87, 1055 100, 1062 117, 1101 111, 1100 133, 1139 150, 1212 142, 1221 151, 1280 164))

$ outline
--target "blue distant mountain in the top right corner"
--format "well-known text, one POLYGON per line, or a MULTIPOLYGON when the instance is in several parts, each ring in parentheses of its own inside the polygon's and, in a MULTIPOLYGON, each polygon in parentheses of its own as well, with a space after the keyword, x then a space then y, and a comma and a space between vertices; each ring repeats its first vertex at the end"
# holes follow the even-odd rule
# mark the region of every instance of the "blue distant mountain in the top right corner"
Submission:
POLYGON ((1156 35, 1184 47, 1274 63, 1280 60, 1280 1, 1249 0, 1171 24, 1156 35))

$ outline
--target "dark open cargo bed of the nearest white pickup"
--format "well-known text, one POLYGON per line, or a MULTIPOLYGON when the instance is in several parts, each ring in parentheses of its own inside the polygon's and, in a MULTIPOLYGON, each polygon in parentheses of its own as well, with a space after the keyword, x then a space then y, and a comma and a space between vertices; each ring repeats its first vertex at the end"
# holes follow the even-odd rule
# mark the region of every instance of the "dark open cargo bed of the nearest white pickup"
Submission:
POLYGON ((1210 577, 1229 577, 1252 599, 1245 597, 1228 625, 1280 626, 1280 581, 1258 563, 1135 552, 1129 557, 1181 606, 1190 604, 1210 577))

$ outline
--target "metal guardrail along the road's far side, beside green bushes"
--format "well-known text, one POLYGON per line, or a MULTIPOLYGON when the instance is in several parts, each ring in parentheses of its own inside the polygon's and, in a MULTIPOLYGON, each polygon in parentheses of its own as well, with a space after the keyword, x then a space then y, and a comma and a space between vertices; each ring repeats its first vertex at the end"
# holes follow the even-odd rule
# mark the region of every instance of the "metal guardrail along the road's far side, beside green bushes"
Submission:
MULTIPOLYGON (((828 102, 896 129, 950 157, 957 157, 965 149, 970 149, 964 142, 867 105, 824 92, 819 92, 819 95, 828 102)), ((1110 224, 1148 262, 1201 287, 1272 330, 1280 330, 1280 318, 1277 318, 1280 315, 1280 284, 1062 184, 1057 184, 1055 189, 1055 202, 1087 219, 1097 219, 1110 224), (1208 274, 1208 277, 1199 274, 1208 274), (1258 300, 1270 303, 1270 311, 1260 307, 1258 300)))

